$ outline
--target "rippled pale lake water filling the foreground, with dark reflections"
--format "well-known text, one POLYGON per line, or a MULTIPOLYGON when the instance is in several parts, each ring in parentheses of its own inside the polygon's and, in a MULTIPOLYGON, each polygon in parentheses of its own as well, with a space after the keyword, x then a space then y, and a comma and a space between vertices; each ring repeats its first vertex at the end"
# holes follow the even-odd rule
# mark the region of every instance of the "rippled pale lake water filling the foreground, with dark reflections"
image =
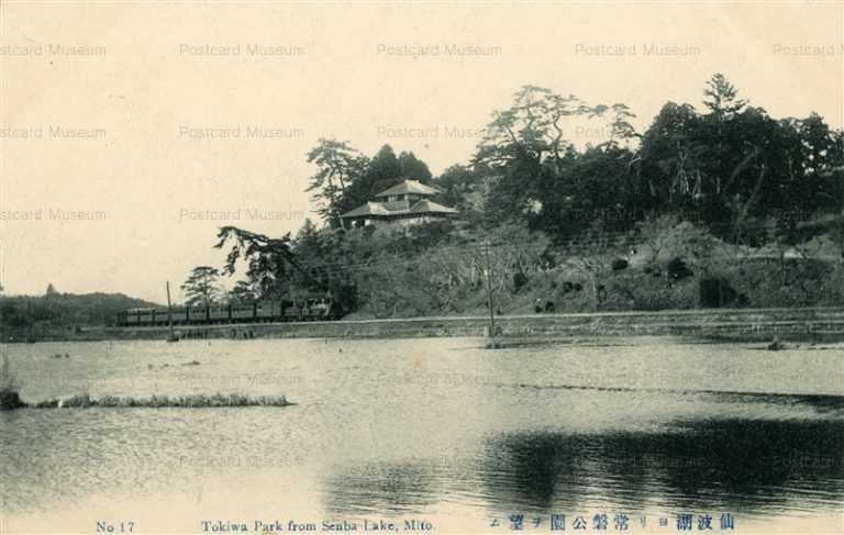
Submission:
POLYGON ((276 520, 287 531, 292 520, 359 533, 366 519, 512 533, 510 515, 523 514, 538 533, 564 514, 567 531, 582 516, 595 533, 601 513, 609 531, 626 514, 631 533, 677 533, 686 513, 696 532, 699 515, 721 532, 722 514, 736 533, 844 531, 842 346, 3 346, 26 401, 243 392, 298 404, 0 413, 0 532, 252 531, 276 520))

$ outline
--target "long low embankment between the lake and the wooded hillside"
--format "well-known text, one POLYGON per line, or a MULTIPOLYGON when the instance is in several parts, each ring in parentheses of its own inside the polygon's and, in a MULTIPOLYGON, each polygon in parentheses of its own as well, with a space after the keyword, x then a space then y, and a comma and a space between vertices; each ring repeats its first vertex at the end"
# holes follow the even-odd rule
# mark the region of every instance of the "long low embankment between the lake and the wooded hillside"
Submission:
MULTIPOLYGON (((484 336, 488 316, 178 326, 180 338, 484 336)), ((844 308, 681 310, 497 316, 503 337, 693 336, 724 341, 844 341, 844 308)), ((167 327, 84 327, 51 341, 166 339, 167 327)))

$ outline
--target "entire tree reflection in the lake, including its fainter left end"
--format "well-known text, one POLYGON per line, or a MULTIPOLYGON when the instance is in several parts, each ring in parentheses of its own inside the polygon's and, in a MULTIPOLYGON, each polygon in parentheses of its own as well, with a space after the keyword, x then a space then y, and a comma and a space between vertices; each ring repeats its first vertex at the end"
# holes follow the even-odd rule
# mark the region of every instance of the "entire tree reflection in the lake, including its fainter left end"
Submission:
POLYGON ((844 421, 678 421, 658 432, 512 432, 452 464, 345 467, 323 486, 332 512, 423 512, 451 494, 499 513, 835 512, 844 421))

